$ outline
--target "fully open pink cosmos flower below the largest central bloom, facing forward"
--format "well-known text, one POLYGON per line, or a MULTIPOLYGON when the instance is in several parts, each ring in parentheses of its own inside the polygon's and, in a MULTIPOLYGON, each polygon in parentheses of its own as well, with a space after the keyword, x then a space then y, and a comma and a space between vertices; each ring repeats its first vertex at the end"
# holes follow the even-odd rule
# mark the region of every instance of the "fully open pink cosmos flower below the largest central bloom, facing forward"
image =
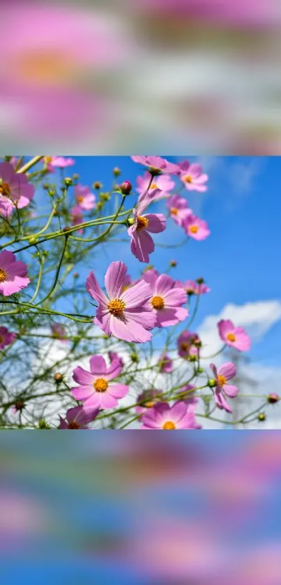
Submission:
POLYGON ((93 355, 90 359, 91 371, 80 366, 73 370, 73 380, 79 384, 71 388, 76 400, 84 402, 84 406, 93 408, 115 408, 117 400, 128 394, 125 384, 112 384, 110 380, 117 378, 122 371, 119 360, 113 360, 107 368, 102 355, 93 355))

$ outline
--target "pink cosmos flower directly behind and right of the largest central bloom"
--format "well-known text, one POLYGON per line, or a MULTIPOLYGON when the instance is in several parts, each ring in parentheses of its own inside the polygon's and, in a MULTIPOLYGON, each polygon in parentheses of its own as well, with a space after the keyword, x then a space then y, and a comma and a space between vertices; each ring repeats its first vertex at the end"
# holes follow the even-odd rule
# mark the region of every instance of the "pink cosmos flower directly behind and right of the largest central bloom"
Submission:
POLYGON ((187 302, 187 296, 183 288, 175 287, 174 280, 167 274, 153 274, 151 270, 144 272, 142 280, 151 285, 150 306, 157 318, 157 327, 169 327, 184 321, 188 317, 188 309, 181 305, 187 302))

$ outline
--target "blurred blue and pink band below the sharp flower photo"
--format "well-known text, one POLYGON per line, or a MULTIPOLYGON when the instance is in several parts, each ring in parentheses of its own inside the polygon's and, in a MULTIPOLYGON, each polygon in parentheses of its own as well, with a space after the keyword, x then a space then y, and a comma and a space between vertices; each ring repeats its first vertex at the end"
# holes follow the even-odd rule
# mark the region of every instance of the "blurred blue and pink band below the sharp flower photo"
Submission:
POLYGON ((1 583, 280 585, 280 431, 19 432, 1 434, 1 583))

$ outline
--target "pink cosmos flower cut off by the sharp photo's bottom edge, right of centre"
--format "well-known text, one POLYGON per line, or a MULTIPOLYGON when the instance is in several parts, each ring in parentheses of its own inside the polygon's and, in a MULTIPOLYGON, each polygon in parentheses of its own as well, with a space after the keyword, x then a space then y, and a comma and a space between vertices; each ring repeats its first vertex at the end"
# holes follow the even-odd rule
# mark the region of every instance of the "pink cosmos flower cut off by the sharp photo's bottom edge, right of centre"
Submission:
POLYGON ((142 417, 142 429, 177 431, 180 429, 198 429, 195 415, 184 402, 167 402, 156 404, 142 417))

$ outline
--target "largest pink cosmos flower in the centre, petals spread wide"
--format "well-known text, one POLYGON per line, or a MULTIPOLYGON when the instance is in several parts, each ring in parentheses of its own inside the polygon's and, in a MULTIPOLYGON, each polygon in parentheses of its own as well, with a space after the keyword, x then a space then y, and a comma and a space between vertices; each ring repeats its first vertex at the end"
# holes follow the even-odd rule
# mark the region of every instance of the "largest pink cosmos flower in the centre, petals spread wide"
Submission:
POLYGON ((102 292, 96 276, 90 272, 86 279, 86 289, 98 302, 98 310, 93 323, 108 336, 114 335, 123 341, 145 343, 151 339, 156 317, 147 306, 151 298, 151 287, 139 281, 123 291, 127 267, 123 262, 112 262, 105 274, 105 288, 108 297, 102 292))

